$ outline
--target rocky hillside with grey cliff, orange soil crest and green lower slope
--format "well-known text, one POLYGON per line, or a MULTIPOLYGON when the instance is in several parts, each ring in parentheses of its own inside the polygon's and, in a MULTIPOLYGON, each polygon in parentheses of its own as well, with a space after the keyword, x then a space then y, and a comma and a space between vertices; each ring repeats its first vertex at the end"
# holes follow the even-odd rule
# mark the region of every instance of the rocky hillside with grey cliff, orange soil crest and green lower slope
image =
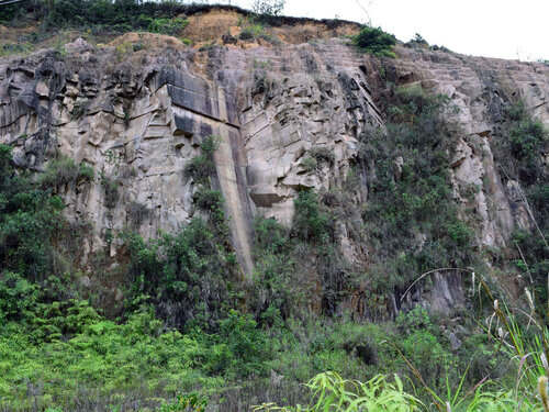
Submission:
POLYGON ((327 370, 428 410, 446 374, 514 389, 484 319, 547 304, 549 66, 183 19, 0 26, 2 408, 306 404, 327 370))

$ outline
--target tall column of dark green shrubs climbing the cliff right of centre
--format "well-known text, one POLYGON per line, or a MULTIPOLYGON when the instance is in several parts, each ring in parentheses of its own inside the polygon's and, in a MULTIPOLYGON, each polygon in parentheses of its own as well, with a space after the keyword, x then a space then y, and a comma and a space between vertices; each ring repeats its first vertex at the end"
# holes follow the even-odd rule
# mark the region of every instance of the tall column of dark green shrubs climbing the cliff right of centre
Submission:
POLYGON ((460 131, 445 119, 447 103, 446 97, 421 89, 397 90, 388 104, 385 132, 362 141, 359 156, 374 163, 362 216, 378 261, 370 279, 379 278, 377 287, 386 291, 406 288, 427 270, 470 265, 474 258, 472 231, 452 200, 448 168, 460 131))

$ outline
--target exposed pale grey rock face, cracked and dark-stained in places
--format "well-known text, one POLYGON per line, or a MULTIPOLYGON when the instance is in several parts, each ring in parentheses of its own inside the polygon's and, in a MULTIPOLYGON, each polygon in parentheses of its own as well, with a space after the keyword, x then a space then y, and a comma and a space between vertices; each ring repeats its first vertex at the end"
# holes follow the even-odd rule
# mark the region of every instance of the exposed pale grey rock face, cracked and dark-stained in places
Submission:
MULTIPOLYGON (((503 245, 516 225, 528 224, 514 182, 500 180, 491 147, 511 96, 549 124, 548 66, 401 48, 399 58, 382 63, 337 38, 253 48, 228 42, 204 52, 169 42, 173 47, 121 56, 79 41, 67 46, 66 60, 42 52, 0 63, 0 142, 14 146, 18 166, 42 170, 59 151, 94 169, 92 182, 59 188, 68 218, 93 225, 83 268, 105 247, 115 258, 115 235, 125 227, 152 237, 200 213, 184 166, 201 138, 214 134, 222 140, 216 185, 240 266, 251 274, 254 215, 290 224, 300 189, 341 185, 357 163, 358 136, 383 126, 376 103, 382 77, 444 92, 459 108, 455 120, 466 134, 451 165, 455 197, 479 214, 479 244, 503 245), (311 170, 305 159, 315 149, 333 156, 311 170), (469 198, 468 188, 475 188, 469 198)), ((357 203, 367 196, 366 185, 356 188, 357 203)), ((347 258, 366 253, 341 233, 347 258)), ((462 300, 459 285, 436 277, 432 307, 447 312, 462 300)), ((363 312, 354 297, 346 304, 363 312)))

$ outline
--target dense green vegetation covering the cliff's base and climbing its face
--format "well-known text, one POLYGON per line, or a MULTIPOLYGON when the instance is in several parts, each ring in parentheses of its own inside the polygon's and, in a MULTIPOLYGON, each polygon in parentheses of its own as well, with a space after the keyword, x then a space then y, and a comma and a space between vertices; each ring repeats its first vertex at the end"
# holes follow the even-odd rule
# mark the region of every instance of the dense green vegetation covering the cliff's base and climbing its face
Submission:
MULTIPOLYGON (((85 275, 72 256, 86 224, 69 225, 56 196, 61 187, 94 178, 107 196, 112 181, 63 156, 32 176, 0 145, 0 407, 184 411, 208 402, 234 411, 262 402, 257 410, 276 410, 269 403, 276 402, 288 411, 298 404, 327 410, 332 403, 336 410, 377 404, 412 411, 447 410, 448 402, 451 410, 504 411, 522 393, 523 409, 534 410, 547 331, 540 321, 533 325, 541 332, 519 326, 528 318, 503 303, 486 326, 490 293, 502 299, 500 291, 486 288, 468 302, 469 313, 453 314, 466 331, 453 347, 456 324, 421 305, 394 322, 388 316, 385 299, 399 297, 422 272, 475 265, 478 258, 474 223, 460 215, 451 196, 448 167, 460 131, 447 121, 449 110, 446 98, 416 89, 388 96, 386 130, 360 136, 358 164, 341 187, 302 190, 291 227, 256 221, 251 285, 239 278, 224 199, 213 185, 217 140, 204 137, 186 167, 199 187, 200 213, 178 233, 147 242, 131 227, 121 235, 127 261, 115 275, 124 300, 112 311, 99 304, 105 291, 81 287, 85 275), (367 177, 370 194, 357 208, 352 188, 359 175, 367 177), (349 222, 376 263, 368 269, 343 257, 338 231, 349 222), (72 237, 64 242, 68 232, 72 237), (369 308, 381 322, 355 322, 341 310, 341 299, 359 286, 371 293, 369 308), (513 346, 502 346, 500 326, 524 347, 513 353, 513 346), (528 352, 537 355, 525 360, 528 352), (512 359, 527 364, 530 375, 517 382, 512 359)), ((501 156, 509 156, 506 172, 524 185, 544 232, 547 177, 539 153, 547 134, 524 108, 509 105, 506 113, 501 132, 508 147, 501 156)), ((334 164, 324 147, 312 147, 306 157, 310 172, 334 164)), ((547 249, 538 235, 531 227, 516 240, 540 297, 547 249)), ((524 264, 519 269, 526 270, 524 264)))

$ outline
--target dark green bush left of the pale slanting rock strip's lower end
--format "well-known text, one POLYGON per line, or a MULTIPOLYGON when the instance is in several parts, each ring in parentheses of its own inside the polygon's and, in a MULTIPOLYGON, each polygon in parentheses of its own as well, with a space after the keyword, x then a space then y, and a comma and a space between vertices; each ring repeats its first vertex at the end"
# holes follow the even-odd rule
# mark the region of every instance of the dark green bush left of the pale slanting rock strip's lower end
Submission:
POLYGON ((133 296, 150 296, 167 325, 183 327, 192 322, 211 329, 234 304, 234 254, 202 219, 148 243, 136 234, 122 237, 130 248, 133 296))

